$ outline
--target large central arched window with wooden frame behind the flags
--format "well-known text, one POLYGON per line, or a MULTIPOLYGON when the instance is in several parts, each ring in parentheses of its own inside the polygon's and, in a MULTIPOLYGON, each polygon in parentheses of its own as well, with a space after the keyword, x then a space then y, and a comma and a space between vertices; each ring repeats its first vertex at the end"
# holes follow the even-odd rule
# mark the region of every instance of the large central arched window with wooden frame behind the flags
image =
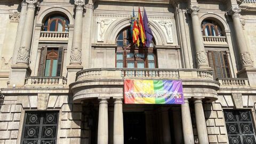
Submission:
POLYGON ((148 48, 135 46, 130 27, 119 33, 116 43, 116 68, 157 68, 154 42, 148 48))

